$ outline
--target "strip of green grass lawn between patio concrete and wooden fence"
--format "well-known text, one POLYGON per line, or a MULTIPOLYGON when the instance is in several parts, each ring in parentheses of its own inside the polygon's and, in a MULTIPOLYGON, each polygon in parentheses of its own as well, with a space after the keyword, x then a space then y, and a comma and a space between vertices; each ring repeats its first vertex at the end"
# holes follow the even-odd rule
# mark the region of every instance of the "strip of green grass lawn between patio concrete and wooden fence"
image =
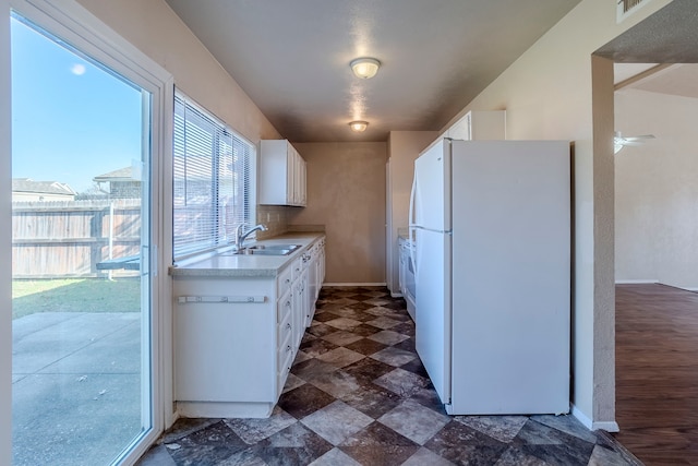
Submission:
POLYGON ((141 280, 70 278, 12 282, 12 319, 35 312, 140 312, 141 280))

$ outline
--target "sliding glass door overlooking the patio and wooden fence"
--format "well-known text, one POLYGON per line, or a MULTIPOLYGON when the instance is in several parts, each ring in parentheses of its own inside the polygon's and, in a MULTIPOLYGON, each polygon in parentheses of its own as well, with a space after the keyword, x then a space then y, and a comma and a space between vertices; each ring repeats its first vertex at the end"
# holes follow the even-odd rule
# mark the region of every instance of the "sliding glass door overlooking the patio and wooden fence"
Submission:
POLYGON ((11 32, 13 465, 132 462, 161 428, 154 94, 19 13, 11 32))

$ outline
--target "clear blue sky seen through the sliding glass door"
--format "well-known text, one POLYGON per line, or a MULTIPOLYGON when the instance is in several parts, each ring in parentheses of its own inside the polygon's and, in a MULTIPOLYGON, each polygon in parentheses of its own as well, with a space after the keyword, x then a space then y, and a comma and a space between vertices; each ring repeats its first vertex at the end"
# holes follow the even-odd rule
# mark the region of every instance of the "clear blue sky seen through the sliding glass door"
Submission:
POLYGON ((12 19, 12 177, 76 192, 141 159, 141 89, 12 19))

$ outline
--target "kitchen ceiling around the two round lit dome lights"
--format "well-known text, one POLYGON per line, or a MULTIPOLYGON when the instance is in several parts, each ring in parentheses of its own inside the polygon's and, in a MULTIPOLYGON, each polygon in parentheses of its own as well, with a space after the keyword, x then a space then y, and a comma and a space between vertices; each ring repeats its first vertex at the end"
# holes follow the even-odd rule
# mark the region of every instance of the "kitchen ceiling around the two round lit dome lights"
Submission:
POLYGON ((440 130, 579 0, 166 0, 296 142, 440 130), (349 62, 373 57, 378 75, 349 62), (351 120, 369 121, 352 133, 351 120))

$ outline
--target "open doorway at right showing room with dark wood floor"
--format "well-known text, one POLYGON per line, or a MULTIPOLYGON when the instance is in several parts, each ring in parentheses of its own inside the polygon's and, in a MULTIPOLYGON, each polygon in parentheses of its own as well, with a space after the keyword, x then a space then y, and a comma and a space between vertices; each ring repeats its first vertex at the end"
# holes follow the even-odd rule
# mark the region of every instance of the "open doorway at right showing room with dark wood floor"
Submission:
POLYGON ((697 440, 698 68, 640 67, 615 65, 646 69, 615 86, 616 438, 681 464, 697 440))

